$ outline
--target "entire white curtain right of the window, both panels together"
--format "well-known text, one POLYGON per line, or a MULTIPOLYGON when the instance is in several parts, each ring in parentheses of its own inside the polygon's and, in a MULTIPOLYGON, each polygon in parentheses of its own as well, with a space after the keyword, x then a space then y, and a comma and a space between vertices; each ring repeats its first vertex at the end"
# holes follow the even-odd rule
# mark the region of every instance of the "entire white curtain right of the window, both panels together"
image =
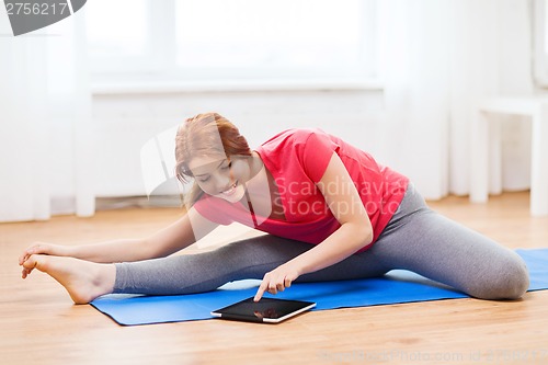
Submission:
POLYGON ((500 9, 514 2, 379 2, 390 160, 427 198, 469 191, 470 123, 500 91, 500 9))

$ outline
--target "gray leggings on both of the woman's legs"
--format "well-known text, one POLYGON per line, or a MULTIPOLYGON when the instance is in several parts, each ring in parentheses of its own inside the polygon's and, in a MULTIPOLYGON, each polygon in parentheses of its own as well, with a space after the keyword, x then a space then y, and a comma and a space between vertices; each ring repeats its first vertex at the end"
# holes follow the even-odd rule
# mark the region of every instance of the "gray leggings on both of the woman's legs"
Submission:
MULTIPOLYGON (((114 293, 149 295, 214 290, 264 274, 312 248, 274 236, 237 241, 215 251, 116 264, 114 293)), ((520 298, 529 280, 512 250, 430 209, 410 184, 374 246, 297 282, 384 275, 403 269, 482 299, 520 298)))

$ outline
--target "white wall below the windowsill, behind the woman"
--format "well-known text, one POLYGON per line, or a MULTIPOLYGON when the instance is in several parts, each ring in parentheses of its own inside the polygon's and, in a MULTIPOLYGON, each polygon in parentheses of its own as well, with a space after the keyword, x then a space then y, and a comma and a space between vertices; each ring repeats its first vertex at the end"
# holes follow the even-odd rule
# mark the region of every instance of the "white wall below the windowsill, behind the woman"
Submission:
MULTIPOLYGON (((215 111, 258 146, 290 127, 317 126, 365 148, 383 140, 378 91, 169 92, 93 99, 98 196, 144 195, 140 148, 197 113, 215 111)), ((378 144, 377 144, 378 145, 378 144)))

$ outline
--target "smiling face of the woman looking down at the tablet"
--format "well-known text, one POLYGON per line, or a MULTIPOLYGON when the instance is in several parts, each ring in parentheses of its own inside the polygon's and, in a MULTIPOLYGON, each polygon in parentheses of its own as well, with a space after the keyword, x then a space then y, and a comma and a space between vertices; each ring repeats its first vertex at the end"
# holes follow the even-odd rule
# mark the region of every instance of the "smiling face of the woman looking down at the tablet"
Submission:
POLYGON ((204 193, 230 203, 243 197, 244 184, 251 178, 248 159, 243 157, 195 157, 189 162, 189 169, 204 193))

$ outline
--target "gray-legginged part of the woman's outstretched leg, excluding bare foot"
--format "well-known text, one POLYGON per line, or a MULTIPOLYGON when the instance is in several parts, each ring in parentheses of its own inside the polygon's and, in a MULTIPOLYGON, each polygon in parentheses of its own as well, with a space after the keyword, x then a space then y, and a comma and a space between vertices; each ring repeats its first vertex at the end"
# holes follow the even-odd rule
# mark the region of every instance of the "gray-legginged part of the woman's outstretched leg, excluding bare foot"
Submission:
MULTIPOLYGON (((114 293, 149 295, 191 294, 214 290, 238 280, 262 280, 264 274, 313 246, 274 236, 261 236, 217 250, 165 259, 116 264, 114 293)), ((318 282, 380 276, 387 272, 375 262, 353 255, 297 282, 318 282), (365 260, 368 261, 368 260, 365 260)))

